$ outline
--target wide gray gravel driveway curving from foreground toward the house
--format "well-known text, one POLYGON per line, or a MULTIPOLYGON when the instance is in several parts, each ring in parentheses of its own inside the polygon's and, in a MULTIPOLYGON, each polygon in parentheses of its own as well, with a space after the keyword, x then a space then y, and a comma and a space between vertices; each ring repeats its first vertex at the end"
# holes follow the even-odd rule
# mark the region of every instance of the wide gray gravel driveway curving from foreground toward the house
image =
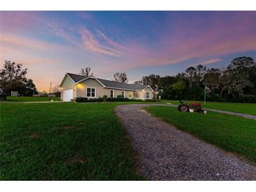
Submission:
MULTIPOLYGON (((151 180, 256 180, 256 167, 151 116, 143 107, 116 107, 138 155, 137 168, 151 180)), ((156 104, 159 105, 159 104, 156 104)))

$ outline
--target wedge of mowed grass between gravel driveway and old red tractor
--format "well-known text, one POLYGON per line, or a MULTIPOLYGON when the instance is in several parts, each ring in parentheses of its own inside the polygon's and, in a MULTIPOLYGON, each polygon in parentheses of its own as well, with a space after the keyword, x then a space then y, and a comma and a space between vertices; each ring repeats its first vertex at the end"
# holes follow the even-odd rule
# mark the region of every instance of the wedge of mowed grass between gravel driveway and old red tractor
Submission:
POLYGON ((256 121, 214 112, 182 113, 176 107, 147 107, 175 128, 256 163, 256 121))

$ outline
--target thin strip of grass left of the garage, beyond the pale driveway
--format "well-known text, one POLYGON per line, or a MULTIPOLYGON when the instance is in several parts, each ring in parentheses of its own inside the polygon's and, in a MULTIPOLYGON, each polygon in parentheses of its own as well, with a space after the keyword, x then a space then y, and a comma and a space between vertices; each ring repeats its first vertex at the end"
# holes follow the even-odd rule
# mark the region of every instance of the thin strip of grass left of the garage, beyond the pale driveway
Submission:
POLYGON ((1 102, 50 102, 50 100, 60 101, 60 97, 11 97, 7 96, 1 102))

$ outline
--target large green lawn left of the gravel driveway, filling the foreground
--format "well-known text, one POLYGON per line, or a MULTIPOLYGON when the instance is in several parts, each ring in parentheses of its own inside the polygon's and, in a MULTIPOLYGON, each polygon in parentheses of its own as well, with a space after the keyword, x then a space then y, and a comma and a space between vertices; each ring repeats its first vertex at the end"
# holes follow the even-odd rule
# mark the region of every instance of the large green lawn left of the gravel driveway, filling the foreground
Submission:
POLYGON ((1 104, 1 180, 144 179, 118 104, 1 104))

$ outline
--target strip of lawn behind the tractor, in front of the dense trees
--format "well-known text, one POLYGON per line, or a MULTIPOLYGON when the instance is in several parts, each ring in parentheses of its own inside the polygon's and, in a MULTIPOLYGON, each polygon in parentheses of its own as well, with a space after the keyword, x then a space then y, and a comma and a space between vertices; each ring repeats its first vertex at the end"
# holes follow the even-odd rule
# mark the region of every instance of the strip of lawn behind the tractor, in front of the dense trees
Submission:
MULTIPOLYGON (((177 100, 161 100, 162 102, 170 102, 173 104, 180 104, 177 100)), ((197 101, 198 102, 198 101, 197 101)), ((256 116, 256 103, 234 103, 234 102, 206 102, 202 107, 209 109, 219 109, 223 111, 232 111, 242 114, 249 114, 256 116)))

